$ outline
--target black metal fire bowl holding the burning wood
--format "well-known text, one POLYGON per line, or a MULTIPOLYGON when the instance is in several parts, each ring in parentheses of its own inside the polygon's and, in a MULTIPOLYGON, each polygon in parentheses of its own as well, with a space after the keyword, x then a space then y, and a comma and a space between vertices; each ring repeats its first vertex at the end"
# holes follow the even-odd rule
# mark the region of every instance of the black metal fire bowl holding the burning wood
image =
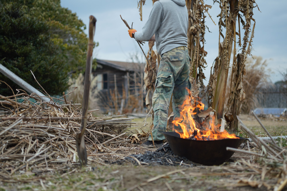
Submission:
POLYGON ((220 165, 226 162, 234 152, 226 147, 238 148, 245 139, 221 139, 212 141, 198 141, 180 138, 176 132, 164 132, 172 152, 180 157, 186 157, 192 162, 203 165, 220 165))

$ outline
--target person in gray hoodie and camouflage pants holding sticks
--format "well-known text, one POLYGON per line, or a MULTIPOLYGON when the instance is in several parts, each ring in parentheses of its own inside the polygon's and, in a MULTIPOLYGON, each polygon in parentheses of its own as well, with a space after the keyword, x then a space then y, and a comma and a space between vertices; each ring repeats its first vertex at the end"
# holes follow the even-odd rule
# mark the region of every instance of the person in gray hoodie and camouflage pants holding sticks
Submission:
MULTIPOLYGON (((152 135, 157 147, 165 139, 168 107, 173 94, 174 119, 180 117, 181 106, 191 88, 190 58, 187 50, 188 13, 185 0, 156 1, 142 31, 129 30, 137 41, 148 41, 155 34, 156 50, 161 55, 155 91, 152 97, 154 128, 152 135)), ((144 145, 152 145, 152 137, 144 145)))

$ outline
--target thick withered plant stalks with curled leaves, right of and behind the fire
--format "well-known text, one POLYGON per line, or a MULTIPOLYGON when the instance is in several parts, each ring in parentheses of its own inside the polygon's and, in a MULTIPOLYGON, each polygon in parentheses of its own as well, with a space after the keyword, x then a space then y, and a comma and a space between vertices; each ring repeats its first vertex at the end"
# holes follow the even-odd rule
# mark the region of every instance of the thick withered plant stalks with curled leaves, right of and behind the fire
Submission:
MULTIPOLYGON (((233 53, 233 64, 232 64, 232 74, 231 74, 231 88, 230 88, 230 98, 228 101, 228 109, 233 116, 240 113, 241 106, 240 102, 244 99, 244 91, 242 88, 243 73, 244 73, 244 63, 247 54, 250 54, 251 46, 250 42, 253 37, 254 26, 252 33, 250 34, 251 20, 253 15, 253 4, 255 0, 214 0, 218 2, 221 8, 220 19, 219 19, 219 53, 218 57, 215 59, 215 64, 213 67, 213 72, 210 75, 210 81, 208 85, 208 95, 209 95, 209 106, 212 106, 217 113, 218 118, 222 118, 224 111, 224 100, 226 92, 226 83, 228 78, 228 68, 230 63, 230 57, 233 53), (245 15, 245 21, 240 15, 242 13, 245 15), (238 32, 236 32, 236 18, 239 18, 244 29, 245 34, 243 38, 243 48, 242 53, 236 56, 236 34, 239 36, 239 46, 241 46, 240 38, 240 26, 238 27, 238 32), (225 34, 224 34, 225 28, 225 34), (221 37, 223 42, 220 42, 221 37), (249 44, 248 44, 249 42, 249 44), (248 46, 247 46, 248 44, 248 46), (233 50, 233 51, 232 51, 233 50)), ((229 117, 227 121, 233 121, 235 117, 229 117), (233 118, 233 119, 232 119, 233 118)), ((230 123, 231 124, 231 123, 230 123)), ((237 127, 237 123, 235 124, 237 127)), ((234 122, 232 129, 234 129, 234 122)))

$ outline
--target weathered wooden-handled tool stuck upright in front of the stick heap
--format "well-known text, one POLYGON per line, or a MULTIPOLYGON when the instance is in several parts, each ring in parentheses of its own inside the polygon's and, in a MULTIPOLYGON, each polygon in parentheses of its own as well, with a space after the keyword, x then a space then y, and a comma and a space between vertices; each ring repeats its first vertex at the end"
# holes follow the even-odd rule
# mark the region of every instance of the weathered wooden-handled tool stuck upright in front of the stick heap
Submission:
POLYGON ((85 145, 84 132, 86 130, 87 125, 87 113, 88 113, 88 102, 89 102, 90 85, 91 85, 91 70, 93 62, 92 56, 94 48, 94 34, 96 30, 96 21, 97 19, 91 15, 89 23, 89 40, 88 40, 87 62, 85 72, 82 121, 79 133, 77 133, 76 135, 76 146, 81 166, 87 165, 87 150, 85 145))

